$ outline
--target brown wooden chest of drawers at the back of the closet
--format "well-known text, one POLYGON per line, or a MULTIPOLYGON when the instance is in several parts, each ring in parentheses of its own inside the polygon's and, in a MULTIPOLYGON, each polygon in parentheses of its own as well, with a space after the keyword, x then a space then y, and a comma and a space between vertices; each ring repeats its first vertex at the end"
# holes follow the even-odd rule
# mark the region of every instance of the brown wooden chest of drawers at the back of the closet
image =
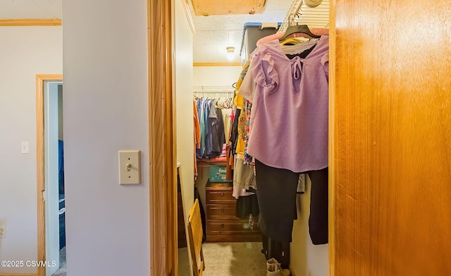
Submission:
POLYGON ((261 241, 257 217, 254 230, 249 229, 249 219, 235 217, 237 200, 232 196, 232 182, 208 182, 205 190, 206 241, 261 241))

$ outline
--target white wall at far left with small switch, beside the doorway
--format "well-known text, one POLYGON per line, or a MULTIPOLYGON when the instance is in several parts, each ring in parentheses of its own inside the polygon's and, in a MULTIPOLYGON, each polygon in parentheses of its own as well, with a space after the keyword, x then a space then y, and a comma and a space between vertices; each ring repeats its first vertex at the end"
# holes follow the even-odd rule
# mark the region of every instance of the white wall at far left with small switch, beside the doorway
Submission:
POLYGON ((36 75, 63 73, 61 26, 0 27, 0 40, 0 260, 36 260, 36 75), (20 153, 21 141, 30 153, 20 153))

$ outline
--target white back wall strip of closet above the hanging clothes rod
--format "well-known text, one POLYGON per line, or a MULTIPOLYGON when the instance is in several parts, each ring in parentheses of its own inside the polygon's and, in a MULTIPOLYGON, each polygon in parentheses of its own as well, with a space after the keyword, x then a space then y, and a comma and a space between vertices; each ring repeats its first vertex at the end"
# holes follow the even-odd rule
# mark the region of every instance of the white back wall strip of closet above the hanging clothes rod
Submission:
POLYGON ((242 66, 195 66, 194 86, 231 86, 236 83, 242 66))

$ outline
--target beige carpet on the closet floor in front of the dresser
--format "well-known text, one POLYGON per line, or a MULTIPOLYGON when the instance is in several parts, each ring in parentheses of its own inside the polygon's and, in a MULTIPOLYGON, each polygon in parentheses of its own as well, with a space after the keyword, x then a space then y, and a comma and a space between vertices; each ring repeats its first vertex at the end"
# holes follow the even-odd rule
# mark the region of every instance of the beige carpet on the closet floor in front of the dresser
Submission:
MULTIPOLYGON (((265 276, 261 242, 204 243, 205 276, 265 276)), ((187 249, 179 249, 179 275, 190 276, 187 249)))

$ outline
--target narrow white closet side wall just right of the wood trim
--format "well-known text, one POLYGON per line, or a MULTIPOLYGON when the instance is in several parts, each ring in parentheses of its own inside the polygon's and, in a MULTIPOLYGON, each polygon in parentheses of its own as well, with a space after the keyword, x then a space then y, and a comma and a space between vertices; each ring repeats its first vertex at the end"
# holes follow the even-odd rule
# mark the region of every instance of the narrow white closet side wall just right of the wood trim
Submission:
POLYGON ((194 203, 194 124, 192 97, 192 31, 183 0, 175 0, 175 117, 177 161, 180 162, 183 207, 188 214, 194 203))

